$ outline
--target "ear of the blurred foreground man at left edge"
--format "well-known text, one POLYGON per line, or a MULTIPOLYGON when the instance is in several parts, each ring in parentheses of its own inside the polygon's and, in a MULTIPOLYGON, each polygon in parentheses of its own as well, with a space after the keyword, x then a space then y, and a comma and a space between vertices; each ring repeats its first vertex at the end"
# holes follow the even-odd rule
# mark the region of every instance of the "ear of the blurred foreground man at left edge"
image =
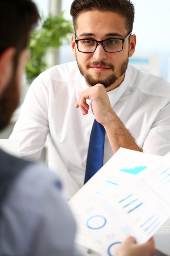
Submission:
POLYGON ((13 74, 13 56, 16 50, 9 47, 0 54, 0 93, 4 90, 13 74))

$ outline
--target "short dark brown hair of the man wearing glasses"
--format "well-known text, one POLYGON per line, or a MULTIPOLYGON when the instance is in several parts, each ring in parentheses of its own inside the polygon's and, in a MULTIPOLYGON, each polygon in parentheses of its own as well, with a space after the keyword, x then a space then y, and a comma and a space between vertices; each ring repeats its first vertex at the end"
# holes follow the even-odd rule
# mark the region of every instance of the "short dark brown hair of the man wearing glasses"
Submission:
POLYGON ((74 30, 77 29, 77 17, 85 11, 112 11, 118 13, 126 20, 126 29, 132 31, 135 9, 130 0, 74 0, 71 4, 71 16, 73 17, 74 30))

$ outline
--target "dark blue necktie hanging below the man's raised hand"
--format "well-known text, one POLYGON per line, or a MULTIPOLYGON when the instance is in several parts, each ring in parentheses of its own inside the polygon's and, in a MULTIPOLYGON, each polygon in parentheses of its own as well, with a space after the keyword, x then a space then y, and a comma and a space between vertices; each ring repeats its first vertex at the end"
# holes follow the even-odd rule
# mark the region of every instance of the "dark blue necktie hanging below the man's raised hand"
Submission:
POLYGON ((103 166, 104 135, 104 126, 95 120, 88 146, 84 184, 103 166))

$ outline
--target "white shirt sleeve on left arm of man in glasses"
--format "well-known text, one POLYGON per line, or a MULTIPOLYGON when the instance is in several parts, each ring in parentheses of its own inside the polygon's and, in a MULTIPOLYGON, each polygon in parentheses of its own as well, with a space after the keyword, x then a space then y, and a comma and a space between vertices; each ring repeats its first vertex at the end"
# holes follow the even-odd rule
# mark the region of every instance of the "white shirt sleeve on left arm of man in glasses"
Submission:
POLYGON ((40 158, 49 132, 49 90, 47 81, 38 76, 30 85, 9 139, 20 142, 20 155, 26 160, 40 158), (41 136, 40 136, 41 135, 41 136))

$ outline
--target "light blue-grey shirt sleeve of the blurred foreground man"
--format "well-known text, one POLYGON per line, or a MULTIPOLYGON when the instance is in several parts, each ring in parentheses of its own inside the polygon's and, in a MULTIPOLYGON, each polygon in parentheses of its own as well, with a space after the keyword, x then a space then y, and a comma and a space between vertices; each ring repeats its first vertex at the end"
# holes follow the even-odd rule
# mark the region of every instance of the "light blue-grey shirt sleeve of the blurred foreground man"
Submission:
POLYGON ((80 256, 75 221, 54 173, 24 170, 2 206, 0 255, 80 256))

